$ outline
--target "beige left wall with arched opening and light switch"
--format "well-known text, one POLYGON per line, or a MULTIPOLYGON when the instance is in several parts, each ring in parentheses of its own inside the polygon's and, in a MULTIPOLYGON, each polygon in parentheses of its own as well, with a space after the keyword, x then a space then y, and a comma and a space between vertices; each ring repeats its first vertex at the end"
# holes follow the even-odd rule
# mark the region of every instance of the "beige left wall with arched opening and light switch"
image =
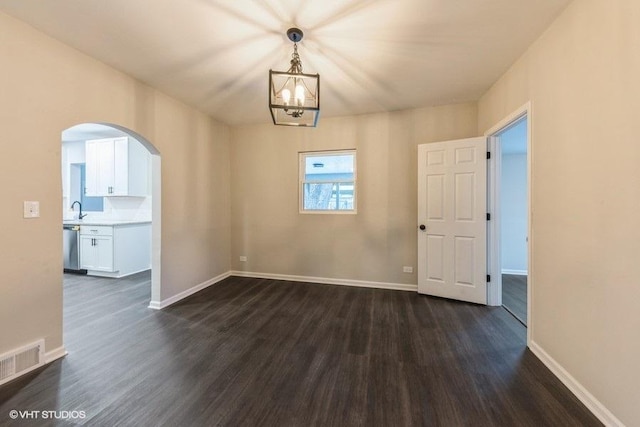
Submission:
POLYGON ((162 156, 162 299, 229 270, 229 130, 0 13, 0 353, 62 345, 61 132, 107 122, 162 156), (24 200, 41 217, 22 218, 24 200))

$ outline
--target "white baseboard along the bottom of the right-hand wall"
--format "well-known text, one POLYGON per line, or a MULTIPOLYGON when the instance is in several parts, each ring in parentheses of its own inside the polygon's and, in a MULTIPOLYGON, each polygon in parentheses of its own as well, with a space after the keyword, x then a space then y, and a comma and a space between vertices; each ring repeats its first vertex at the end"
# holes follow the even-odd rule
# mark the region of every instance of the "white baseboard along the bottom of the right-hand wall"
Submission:
POLYGON ((547 368, 556 376, 567 388, 582 402, 593 415, 598 417, 606 426, 624 427, 624 424, 616 418, 598 399, 576 380, 562 365, 542 349, 536 342, 529 344, 529 349, 533 354, 545 364, 547 368))

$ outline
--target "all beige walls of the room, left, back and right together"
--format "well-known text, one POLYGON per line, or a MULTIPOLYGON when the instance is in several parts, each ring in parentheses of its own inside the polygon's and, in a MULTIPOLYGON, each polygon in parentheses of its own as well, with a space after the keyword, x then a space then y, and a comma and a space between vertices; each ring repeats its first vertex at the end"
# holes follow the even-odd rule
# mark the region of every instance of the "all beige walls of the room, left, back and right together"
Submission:
POLYGON ((229 130, 0 14, 0 323, 12 325, 0 353, 62 345, 60 132, 71 125, 119 124, 160 151, 167 299, 230 268, 415 284, 402 266, 416 267, 416 146, 481 134, 531 100, 533 342, 640 425, 638 22, 635 0, 573 2, 478 108, 229 130), (340 148, 357 149, 358 214, 298 214, 297 153, 340 148), (23 200, 39 200, 41 218, 23 219, 23 200))

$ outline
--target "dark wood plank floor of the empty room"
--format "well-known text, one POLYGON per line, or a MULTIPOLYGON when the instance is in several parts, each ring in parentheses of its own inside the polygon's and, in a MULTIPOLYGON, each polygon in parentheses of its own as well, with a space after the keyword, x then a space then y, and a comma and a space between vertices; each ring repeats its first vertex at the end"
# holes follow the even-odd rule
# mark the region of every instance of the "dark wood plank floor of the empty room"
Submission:
POLYGON ((90 426, 596 426, 501 307, 229 278, 162 311, 149 276, 65 280, 69 355, 0 387, 90 426))

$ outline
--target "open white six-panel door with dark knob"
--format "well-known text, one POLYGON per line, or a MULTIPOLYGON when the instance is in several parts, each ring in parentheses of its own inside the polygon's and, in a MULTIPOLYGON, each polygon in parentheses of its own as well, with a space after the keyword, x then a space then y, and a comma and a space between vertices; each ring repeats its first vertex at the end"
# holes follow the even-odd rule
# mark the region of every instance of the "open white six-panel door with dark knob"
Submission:
POLYGON ((418 146, 418 292, 487 303, 487 141, 418 146))

